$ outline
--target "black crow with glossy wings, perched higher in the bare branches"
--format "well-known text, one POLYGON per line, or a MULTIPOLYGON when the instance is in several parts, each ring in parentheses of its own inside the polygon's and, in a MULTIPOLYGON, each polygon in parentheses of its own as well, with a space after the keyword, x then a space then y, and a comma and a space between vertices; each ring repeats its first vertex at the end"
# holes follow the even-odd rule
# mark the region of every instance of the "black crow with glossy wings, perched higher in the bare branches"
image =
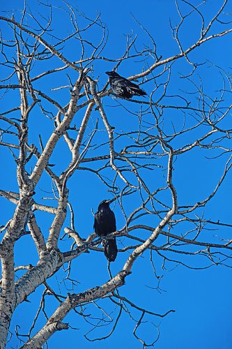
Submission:
POLYGON ((115 71, 107 71, 109 75, 109 83, 113 93, 121 98, 132 98, 133 96, 144 96, 146 92, 140 89, 137 84, 133 84, 130 80, 120 76, 115 71))

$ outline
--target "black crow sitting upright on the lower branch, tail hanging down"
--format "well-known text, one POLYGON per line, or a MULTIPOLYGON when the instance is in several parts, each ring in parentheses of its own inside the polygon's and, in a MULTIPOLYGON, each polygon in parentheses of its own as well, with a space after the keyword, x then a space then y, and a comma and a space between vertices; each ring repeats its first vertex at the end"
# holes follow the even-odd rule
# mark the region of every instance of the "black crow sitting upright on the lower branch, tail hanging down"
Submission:
MULTIPOLYGON (((110 202, 110 200, 100 202, 98 211, 95 213, 93 228, 98 237, 105 237, 111 232, 116 232, 116 220, 114 212, 109 207, 110 202)), ((103 241, 102 246, 107 260, 114 262, 118 252, 115 237, 103 241)))

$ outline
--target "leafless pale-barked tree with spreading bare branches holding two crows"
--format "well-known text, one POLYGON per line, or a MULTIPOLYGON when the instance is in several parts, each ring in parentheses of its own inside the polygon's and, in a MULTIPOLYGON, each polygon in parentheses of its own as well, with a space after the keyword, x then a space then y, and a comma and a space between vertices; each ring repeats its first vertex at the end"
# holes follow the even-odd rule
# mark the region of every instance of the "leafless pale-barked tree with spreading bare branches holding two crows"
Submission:
MULTIPOLYGON (((203 5, 176 1, 179 22, 171 23, 170 30, 177 45, 170 57, 163 56, 155 39, 136 19, 149 45, 141 45, 137 35, 128 35, 122 56, 107 57, 108 32, 100 15, 91 20, 66 3, 62 9, 40 3, 44 15, 35 16, 25 4, 22 13, 0 17, 1 101, 7 106, 0 114, 0 145, 10 151, 11 164, 6 171, 17 168, 17 191, 10 183, 1 183, 0 190, 4 200, 13 203, 10 219, 1 216, 1 348, 10 341, 15 309, 36 290, 40 304, 33 322, 26 324, 28 332, 15 329, 22 348, 40 348, 56 331, 72 327, 63 322, 70 311, 88 322, 91 329, 86 339, 91 341, 110 336, 123 312, 134 321, 136 311, 140 315, 133 334, 146 348, 153 343, 146 343, 138 334, 144 317, 163 318, 173 310, 157 313, 123 295, 133 265, 141 261, 143 253, 153 268, 157 287, 161 280, 157 269, 165 269, 169 262, 190 267, 190 258, 193 262, 204 258, 201 268, 231 266, 228 231, 232 224, 210 216, 210 202, 219 195, 232 165, 231 76, 199 59, 206 43, 217 40, 219 45, 231 34, 228 3, 225 0, 209 20, 203 15, 203 5), (62 38, 60 31, 56 33, 57 11, 63 11, 65 21, 69 21, 70 31, 62 38), (196 26, 195 41, 186 45, 180 38, 190 18, 200 20, 201 25, 196 26), (70 51, 72 46, 75 50, 70 51), (138 60, 136 73, 128 79, 147 91, 146 98, 116 98, 107 75, 96 73, 104 64, 109 67, 109 62, 117 70, 128 61, 133 64, 138 60), (208 88, 201 77, 210 65, 221 77, 217 91, 208 88), (181 77, 178 87, 177 73, 181 77), (113 121, 115 110, 118 118, 113 121), (123 126, 124 117, 132 119, 130 130, 123 126), (42 133, 36 131, 37 123, 42 133), (196 151, 199 158, 210 158, 217 167, 217 181, 208 174, 206 191, 196 191, 197 199, 192 200, 187 190, 183 193, 185 173, 181 164, 183 158, 190 158, 193 167, 199 166, 194 161, 196 151), (74 184, 72 178, 77 172, 86 174, 85 183, 75 177, 74 184), (88 186, 87 178, 93 176, 115 200, 116 214, 121 215, 118 231, 107 237, 118 240, 118 272, 111 275, 109 269, 108 280, 79 292, 72 262, 88 252, 86 258, 94 263, 93 251, 102 253, 102 239, 93 231, 86 230, 85 237, 80 235, 75 220, 75 207, 77 202, 83 205, 83 198, 74 198, 73 193, 78 186, 88 186), (52 198, 41 198, 42 190, 51 188, 51 183, 52 198), (48 220, 52 222, 49 234, 48 220), (220 232, 217 236, 213 234, 215 228, 220 232), (38 255, 36 262, 17 265, 15 244, 20 244, 25 235, 33 240, 38 255), (65 287, 59 292, 52 283, 55 278, 69 281, 71 293, 65 287), (52 298, 56 302, 52 315, 47 315, 51 312, 47 311, 47 297, 49 302, 52 298), (91 305, 101 315, 94 318, 88 312, 91 305), (117 314, 108 310, 112 305, 117 314), (38 323, 41 313, 43 325, 38 323), (99 327, 109 324, 108 334, 89 336, 93 329, 98 333, 99 327)), ((196 190, 197 183, 191 179, 190 186, 196 190)), ((96 209, 101 199, 89 199, 86 211, 96 209)), ((139 275, 134 277, 139 280, 139 275)), ((154 343, 158 336, 157 332, 154 343)))

